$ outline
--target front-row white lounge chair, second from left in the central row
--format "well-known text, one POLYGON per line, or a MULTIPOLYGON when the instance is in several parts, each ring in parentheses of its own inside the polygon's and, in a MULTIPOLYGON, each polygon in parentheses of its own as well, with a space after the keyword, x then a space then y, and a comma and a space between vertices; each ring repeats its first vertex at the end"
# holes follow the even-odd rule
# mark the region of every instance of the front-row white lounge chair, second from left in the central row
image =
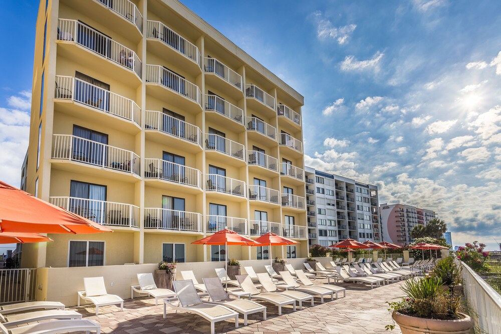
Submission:
POLYGON ((226 306, 238 313, 243 314, 243 324, 247 325, 247 315, 257 312, 263 312, 263 320, 266 320, 266 306, 252 300, 231 299, 224 291, 221 281, 217 277, 202 278, 209 294, 208 303, 226 306))

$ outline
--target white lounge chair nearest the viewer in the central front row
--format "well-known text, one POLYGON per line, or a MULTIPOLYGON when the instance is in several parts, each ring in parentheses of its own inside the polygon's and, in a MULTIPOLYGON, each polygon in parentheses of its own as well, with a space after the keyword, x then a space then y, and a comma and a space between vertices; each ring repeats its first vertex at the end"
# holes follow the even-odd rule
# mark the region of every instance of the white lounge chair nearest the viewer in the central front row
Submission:
POLYGON ((167 316, 167 306, 176 311, 188 312, 200 315, 210 321, 210 333, 214 334, 214 322, 235 319, 235 328, 238 328, 238 313, 221 305, 212 305, 202 302, 196 293, 195 286, 191 279, 175 280, 174 290, 176 290, 178 305, 174 305, 174 298, 164 298, 163 317, 167 316))

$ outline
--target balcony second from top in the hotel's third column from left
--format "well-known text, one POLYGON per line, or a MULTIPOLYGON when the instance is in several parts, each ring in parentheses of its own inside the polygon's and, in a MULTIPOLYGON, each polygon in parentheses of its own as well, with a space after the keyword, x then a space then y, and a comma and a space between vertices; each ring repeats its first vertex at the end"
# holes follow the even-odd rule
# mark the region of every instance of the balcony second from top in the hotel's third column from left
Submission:
POLYGON ((243 110, 216 95, 205 94, 205 111, 208 112, 206 118, 215 123, 223 122, 227 127, 244 126, 243 110))

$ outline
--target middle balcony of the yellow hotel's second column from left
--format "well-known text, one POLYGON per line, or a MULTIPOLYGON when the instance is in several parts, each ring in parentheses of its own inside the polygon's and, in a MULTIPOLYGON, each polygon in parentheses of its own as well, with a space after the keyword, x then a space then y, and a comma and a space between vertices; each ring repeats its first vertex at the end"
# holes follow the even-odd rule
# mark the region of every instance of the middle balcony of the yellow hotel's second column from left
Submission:
POLYGON ((146 139, 163 144, 169 140, 168 137, 171 137, 180 140, 171 143, 176 143, 176 147, 183 151, 198 153, 202 150, 202 131, 199 127, 161 111, 147 110, 145 116, 146 139))

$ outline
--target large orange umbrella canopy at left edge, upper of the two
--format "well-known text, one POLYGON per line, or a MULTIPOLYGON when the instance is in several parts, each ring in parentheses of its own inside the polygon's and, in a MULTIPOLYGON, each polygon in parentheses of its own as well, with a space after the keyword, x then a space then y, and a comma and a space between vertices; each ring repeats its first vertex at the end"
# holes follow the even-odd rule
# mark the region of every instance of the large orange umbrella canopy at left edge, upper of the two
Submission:
POLYGON ((113 231, 0 181, 0 232, 77 234, 113 231))

